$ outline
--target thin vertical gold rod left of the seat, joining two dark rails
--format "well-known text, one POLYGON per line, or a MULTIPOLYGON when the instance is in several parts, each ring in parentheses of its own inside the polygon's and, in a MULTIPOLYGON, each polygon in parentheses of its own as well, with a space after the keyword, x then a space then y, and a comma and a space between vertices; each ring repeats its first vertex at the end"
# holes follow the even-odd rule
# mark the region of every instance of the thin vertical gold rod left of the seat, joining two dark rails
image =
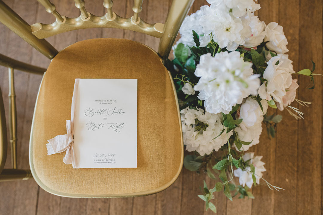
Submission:
POLYGON ((14 83, 14 69, 9 67, 9 132, 12 156, 12 168, 17 169, 17 110, 14 83))

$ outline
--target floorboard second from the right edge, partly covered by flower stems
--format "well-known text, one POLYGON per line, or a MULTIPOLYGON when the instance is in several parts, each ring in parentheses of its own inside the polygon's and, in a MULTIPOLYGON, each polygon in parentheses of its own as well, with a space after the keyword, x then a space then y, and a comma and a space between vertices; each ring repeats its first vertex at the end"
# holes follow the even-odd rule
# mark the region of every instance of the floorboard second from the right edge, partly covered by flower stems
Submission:
MULTIPOLYGON (((279 2, 279 24, 284 27, 284 33, 289 43, 289 59, 293 60, 294 70, 298 68, 298 50, 299 50, 299 1, 280 1, 279 2)), ((293 75, 298 78, 298 75, 293 75)), ((300 92, 304 86, 298 90, 300 92)), ((297 96, 298 97, 298 96, 297 96)), ((295 101, 293 107, 301 108, 295 101)), ((304 108, 301 108, 302 110, 304 108)), ((297 124, 303 120, 297 120, 286 110, 278 111, 283 115, 283 121, 277 125, 277 145, 276 145, 276 167, 284 165, 284 171, 276 168, 275 185, 284 188, 284 191, 275 192, 275 214, 296 214, 296 196, 297 196, 297 165, 294 158, 297 155, 295 144, 298 140, 297 124), (282 144, 285 143, 285 144, 282 144), (289 143, 289 144, 288 144, 289 143)))

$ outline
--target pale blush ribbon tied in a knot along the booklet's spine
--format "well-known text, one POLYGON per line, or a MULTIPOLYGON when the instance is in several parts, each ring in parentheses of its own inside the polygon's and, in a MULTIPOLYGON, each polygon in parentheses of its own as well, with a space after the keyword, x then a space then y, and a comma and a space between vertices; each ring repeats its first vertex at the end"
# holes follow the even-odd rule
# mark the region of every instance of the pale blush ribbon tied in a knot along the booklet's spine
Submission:
POLYGON ((66 154, 63 158, 65 164, 72 164, 73 168, 78 169, 76 164, 76 157, 74 152, 74 112, 75 102, 78 89, 78 78, 75 79, 73 97, 72 97, 72 108, 71 108, 71 120, 66 120, 66 132, 67 134, 57 135, 56 137, 47 140, 47 155, 61 153, 66 150, 66 154))

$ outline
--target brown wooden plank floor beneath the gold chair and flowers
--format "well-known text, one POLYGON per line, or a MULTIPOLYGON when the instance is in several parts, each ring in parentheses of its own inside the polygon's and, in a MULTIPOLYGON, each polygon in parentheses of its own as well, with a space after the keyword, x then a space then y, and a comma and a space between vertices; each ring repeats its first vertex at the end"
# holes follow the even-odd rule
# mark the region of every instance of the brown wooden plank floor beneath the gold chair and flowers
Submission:
MULTIPOLYGON (((171 0, 145 0, 141 17, 149 22, 164 22, 171 0)), ((52 0, 61 15, 76 17, 79 11, 72 0, 52 0), (70 9, 72 8, 72 9, 70 9)), ((86 8, 95 15, 103 15, 102 0, 86 1, 86 8)), ((29 24, 54 21, 36 0, 5 0, 29 24), (46 21, 47 20, 47 21, 46 21)), ((321 0, 258 0, 262 9, 259 18, 268 24, 278 22, 284 26, 289 41, 290 59, 295 71, 311 68, 310 60, 316 63, 316 73, 322 74, 322 1, 321 0)), ((205 1, 196 0, 191 12, 195 12, 205 1)), ((130 0, 115 1, 113 10, 130 17, 130 0)), ((154 48, 158 39, 140 33, 119 29, 90 29, 67 32, 48 38, 58 50, 80 40, 100 37, 116 37, 136 40, 154 48)), ((20 61, 47 67, 49 60, 0 24, 0 53, 20 61)), ((107 50, 108 54, 108 50, 107 50)), ((68 71, 66 71, 68 73, 68 71)), ((253 188, 254 200, 234 198, 230 202, 222 193, 216 193, 214 204, 218 214, 322 214, 322 94, 323 78, 315 77, 314 90, 307 90, 309 80, 299 77, 297 98, 311 101, 309 108, 299 107, 305 120, 296 121, 287 112, 282 112, 283 122, 278 125, 276 139, 268 139, 266 131, 261 143, 252 147, 267 169, 264 178, 285 191, 271 191, 266 186, 253 188)), ((18 168, 29 168, 29 133, 41 76, 15 73, 18 114, 18 168)), ((8 113, 8 75, 0 68, 0 85, 8 113)), ((10 168, 10 149, 6 168, 10 168)), ((69 199, 54 196, 39 188, 34 180, 0 183, 0 215, 12 214, 212 214, 205 211, 199 183, 203 179, 211 185, 206 175, 183 170, 177 181, 158 194, 122 199, 69 199)))

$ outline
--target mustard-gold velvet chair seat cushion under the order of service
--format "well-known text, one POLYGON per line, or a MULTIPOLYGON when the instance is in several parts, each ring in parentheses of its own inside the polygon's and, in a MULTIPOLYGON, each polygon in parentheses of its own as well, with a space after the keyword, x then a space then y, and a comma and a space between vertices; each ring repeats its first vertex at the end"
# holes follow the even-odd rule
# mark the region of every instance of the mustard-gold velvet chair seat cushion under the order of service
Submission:
POLYGON ((45 73, 30 139, 30 167, 46 191, 67 197, 148 195, 169 187, 183 160, 182 131, 170 73, 149 47, 125 39, 84 40, 60 51, 45 73), (47 155, 66 133, 76 78, 138 79, 137 168, 81 168, 47 155))

